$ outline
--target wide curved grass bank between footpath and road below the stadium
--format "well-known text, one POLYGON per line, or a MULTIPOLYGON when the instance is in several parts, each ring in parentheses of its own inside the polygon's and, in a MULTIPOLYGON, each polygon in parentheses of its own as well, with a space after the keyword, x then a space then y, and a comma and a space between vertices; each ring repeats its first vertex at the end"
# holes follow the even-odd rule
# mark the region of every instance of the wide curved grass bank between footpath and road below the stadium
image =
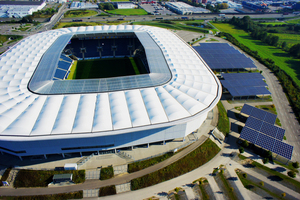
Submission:
POLYGON ((219 151, 220 148, 210 139, 207 139, 200 147, 184 158, 156 172, 131 180, 131 190, 149 187, 192 171, 207 163, 219 151))

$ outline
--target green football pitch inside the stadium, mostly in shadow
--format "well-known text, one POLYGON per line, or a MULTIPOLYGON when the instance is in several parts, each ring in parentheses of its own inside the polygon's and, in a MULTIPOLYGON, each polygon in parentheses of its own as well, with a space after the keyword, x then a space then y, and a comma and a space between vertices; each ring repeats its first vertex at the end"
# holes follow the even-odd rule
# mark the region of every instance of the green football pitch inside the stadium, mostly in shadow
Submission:
POLYGON ((146 73, 138 58, 104 58, 75 62, 68 79, 111 78, 146 73))

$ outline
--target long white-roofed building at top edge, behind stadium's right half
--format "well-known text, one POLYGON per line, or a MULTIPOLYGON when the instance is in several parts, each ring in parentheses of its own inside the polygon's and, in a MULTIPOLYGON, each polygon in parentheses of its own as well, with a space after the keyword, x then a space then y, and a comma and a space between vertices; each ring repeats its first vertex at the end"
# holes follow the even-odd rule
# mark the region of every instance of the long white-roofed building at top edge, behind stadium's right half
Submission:
POLYGON ((167 2, 166 7, 171 11, 179 15, 192 15, 193 13, 209 13, 209 10, 206 10, 201 7, 194 7, 183 2, 167 2))

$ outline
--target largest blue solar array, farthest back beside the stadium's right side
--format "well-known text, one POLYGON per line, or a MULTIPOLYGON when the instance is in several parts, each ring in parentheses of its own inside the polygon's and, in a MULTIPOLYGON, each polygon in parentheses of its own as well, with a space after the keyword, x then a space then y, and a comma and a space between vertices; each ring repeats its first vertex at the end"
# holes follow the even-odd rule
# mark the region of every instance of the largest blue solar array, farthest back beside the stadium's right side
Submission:
POLYGON ((250 58, 227 43, 201 43, 193 47, 213 70, 256 68, 250 58))

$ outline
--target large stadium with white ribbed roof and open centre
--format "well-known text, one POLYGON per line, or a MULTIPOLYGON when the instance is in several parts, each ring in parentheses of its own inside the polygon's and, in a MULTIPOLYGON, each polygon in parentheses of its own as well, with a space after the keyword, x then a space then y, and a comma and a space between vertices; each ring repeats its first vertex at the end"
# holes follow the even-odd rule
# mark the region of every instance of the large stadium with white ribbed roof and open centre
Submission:
POLYGON ((221 91, 197 52, 165 29, 42 32, 0 57, 0 151, 64 156, 183 138, 221 91))

